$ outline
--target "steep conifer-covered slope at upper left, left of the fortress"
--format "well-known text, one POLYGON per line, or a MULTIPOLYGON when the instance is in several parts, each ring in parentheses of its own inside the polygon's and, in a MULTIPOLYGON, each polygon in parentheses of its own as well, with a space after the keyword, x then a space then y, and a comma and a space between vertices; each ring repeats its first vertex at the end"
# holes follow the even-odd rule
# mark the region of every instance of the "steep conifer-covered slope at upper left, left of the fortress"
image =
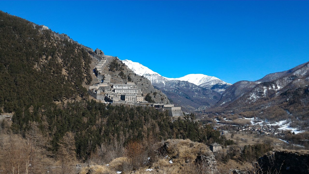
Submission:
POLYGON ((79 44, 0 12, 0 106, 5 112, 85 97, 91 58, 79 44), (61 89, 61 90, 60 90, 61 89))

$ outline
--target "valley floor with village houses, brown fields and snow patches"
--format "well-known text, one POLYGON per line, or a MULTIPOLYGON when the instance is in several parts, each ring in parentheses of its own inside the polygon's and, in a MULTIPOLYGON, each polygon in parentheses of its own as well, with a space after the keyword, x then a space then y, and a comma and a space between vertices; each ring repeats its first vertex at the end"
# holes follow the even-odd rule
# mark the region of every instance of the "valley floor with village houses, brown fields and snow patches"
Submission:
MULTIPOLYGON (((204 117, 205 119, 205 117, 204 117)), ((269 143, 274 147, 296 147, 303 148, 304 146, 295 144, 285 140, 287 134, 297 134, 303 131, 297 128, 290 127, 290 120, 282 120, 279 122, 267 122, 259 118, 244 118, 239 117, 235 120, 231 118, 208 118, 204 121, 205 124, 211 124, 214 130, 220 131, 226 139, 233 140, 236 144, 254 145, 257 143, 269 143)), ((205 125, 204 124, 204 125, 205 125)))

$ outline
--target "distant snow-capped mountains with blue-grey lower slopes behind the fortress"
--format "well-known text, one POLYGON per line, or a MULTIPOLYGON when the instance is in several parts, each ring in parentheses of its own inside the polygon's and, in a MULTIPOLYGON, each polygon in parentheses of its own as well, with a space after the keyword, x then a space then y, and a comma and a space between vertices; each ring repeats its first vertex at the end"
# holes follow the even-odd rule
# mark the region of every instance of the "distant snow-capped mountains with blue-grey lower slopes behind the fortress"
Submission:
POLYGON ((122 62, 134 73, 149 79, 151 84, 163 91, 171 102, 191 111, 216 104, 225 89, 232 85, 217 77, 204 74, 167 78, 138 62, 127 59, 122 62))

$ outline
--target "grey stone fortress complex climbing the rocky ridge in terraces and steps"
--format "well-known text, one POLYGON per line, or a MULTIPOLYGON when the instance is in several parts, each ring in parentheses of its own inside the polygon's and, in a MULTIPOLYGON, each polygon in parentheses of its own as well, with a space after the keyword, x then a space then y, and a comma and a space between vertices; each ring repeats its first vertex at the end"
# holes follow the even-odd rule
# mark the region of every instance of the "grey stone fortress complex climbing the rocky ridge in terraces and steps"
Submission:
MULTIPOLYGON (((107 58, 118 59, 117 57, 107 56, 96 49, 95 53, 101 60, 95 65, 93 72, 101 80, 89 86, 88 93, 95 99, 105 101, 110 104, 127 104, 144 107, 154 107, 158 111, 169 111, 170 116, 184 116, 181 107, 174 107, 173 104, 150 103, 144 99, 141 81, 125 82, 124 84, 112 83, 112 76, 103 72, 103 67, 107 66, 107 58)), ((118 59, 119 60, 119 59, 118 59)), ((120 60, 119 60, 120 61, 120 60)))

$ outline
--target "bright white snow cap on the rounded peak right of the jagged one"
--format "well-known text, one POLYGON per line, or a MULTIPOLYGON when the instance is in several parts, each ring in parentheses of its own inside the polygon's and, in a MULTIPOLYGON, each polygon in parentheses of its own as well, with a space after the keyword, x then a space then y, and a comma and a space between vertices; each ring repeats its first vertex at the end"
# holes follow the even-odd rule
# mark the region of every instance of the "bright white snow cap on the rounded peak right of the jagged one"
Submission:
MULTIPOLYGON (((168 79, 168 80, 188 81, 188 82, 193 83, 197 86, 199 86, 203 83, 207 83, 207 82, 213 82, 213 83, 210 83, 209 85, 215 85, 215 84, 218 83, 218 80, 220 80, 217 77, 207 76, 207 75, 204 75, 204 74, 188 74, 186 76, 179 77, 179 78, 167 78, 167 77, 165 77, 165 78, 168 79)), ((220 83, 232 85, 232 84, 226 83, 222 80, 220 80, 220 83)))

